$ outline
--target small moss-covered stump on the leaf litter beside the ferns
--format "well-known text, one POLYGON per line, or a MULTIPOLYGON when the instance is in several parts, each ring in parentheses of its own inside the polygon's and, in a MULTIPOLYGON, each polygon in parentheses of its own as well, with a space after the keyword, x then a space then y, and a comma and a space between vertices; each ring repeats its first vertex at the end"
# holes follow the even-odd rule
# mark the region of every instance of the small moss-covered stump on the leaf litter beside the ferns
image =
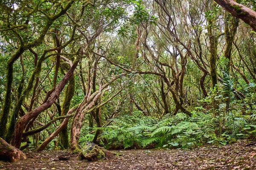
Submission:
POLYGON ((87 142, 82 151, 79 153, 77 159, 79 160, 88 160, 88 161, 97 161, 103 159, 106 156, 106 151, 104 148, 99 147, 98 145, 87 142))

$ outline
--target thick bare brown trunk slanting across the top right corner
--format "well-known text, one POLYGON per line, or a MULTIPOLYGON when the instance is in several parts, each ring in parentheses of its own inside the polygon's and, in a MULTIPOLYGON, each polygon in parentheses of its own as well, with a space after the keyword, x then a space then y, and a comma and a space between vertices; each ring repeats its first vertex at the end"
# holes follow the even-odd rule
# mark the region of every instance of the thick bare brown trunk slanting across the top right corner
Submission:
POLYGON ((234 0, 215 0, 226 11, 230 12, 234 17, 240 18, 247 23, 253 31, 256 31, 256 11, 237 3, 234 0))

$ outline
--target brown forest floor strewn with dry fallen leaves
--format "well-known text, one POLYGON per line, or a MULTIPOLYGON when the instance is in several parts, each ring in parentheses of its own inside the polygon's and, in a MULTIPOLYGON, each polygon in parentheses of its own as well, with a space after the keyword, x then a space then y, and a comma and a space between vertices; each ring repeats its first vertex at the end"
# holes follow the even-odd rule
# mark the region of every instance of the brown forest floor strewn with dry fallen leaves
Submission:
MULTIPOLYGON (((68 161, 58 156, 67 150, 25 152, 28 159, 0 162, 3 170, 256 170, 256 145, 245 142, 225 146, 206 146, 192 150, 112 150, 102 161, 78 161, 76 155, 68 161)), ((1 168, 0 168, 1 169, 1 168)))

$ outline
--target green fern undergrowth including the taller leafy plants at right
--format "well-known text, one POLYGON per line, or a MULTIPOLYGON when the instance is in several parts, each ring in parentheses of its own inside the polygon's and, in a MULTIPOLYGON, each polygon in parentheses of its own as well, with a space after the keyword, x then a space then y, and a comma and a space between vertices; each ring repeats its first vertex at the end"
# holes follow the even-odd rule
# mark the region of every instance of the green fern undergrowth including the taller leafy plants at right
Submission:
MULTIPOLYGON (((236 100, 230 92, 230 109, 225 108, 224 92, 232 89, 232 80, 224 79, 222 86, 213 89, 202 100, 208 106, 194 107, 189 117, 185 113, 143 116, 141 111, 111 119, 111 124, 101 127, 99 144, 108 149, 131 148, 194 148, 206 144, 226 145, 237 140, 256 139, 256 85, 243 90, 248 94, 244 100, 236 100), (216 90, 218 89, 218 90, 216 90), (214 101, 214 104, 212 104, 214 101)), ((99 128, 93 128, 95 131, 99 128)), ((87 129, 88 131, 91 129, 87 129)), ((85 130, 86 131, 86 130, 85 130)), ((93 133, 87 133, 80 143, 91 141, 93 133)))

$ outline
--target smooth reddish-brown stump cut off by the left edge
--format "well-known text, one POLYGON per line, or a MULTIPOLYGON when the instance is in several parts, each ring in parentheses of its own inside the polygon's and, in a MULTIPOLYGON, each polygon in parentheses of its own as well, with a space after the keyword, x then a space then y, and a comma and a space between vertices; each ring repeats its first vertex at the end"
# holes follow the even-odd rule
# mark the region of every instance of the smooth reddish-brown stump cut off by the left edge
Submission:
POLYGON ((23 152, 0 138, 0 160, 14 162, 23 159, 26 159, 23 152))

